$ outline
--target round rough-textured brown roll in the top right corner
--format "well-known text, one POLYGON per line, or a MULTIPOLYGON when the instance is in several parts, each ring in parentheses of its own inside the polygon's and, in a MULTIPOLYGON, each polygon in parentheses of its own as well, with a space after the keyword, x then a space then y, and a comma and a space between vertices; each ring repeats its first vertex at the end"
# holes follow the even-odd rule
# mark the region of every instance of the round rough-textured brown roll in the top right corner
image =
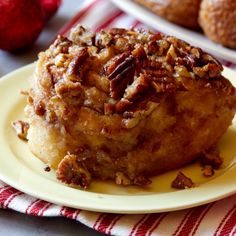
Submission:
POLYGON ((211 40, 236 49, 235 0, 203 0, 199 23, 211 40))

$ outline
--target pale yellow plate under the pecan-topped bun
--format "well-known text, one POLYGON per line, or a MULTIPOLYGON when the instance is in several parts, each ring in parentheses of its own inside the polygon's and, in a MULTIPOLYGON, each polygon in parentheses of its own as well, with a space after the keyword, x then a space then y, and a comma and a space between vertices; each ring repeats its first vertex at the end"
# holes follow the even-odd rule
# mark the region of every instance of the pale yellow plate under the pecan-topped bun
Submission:
MULTIPOLYGON (((170 188, 179 170, 153 178, 149 187, 120 187, 111 182, 92 183, 87 191, 74 189, 57 181, 54 171, 45 172, 45 165, 31 154, 27 143, 18 139, 11 121, 25 119, 25 98, 20 90, 29 87, 34 64, 6 75, 0 80, 0 179, 34 197, 79 209, 99 212, 151 213, 173 211, 224 198, 236 192, 236 120, 221 140, 223 167, 211 178, 201 175, 198 163, 181 168, 196 183, 186 190, 170 188)), ((226 77, 236 73, 225 69, 226 77)))

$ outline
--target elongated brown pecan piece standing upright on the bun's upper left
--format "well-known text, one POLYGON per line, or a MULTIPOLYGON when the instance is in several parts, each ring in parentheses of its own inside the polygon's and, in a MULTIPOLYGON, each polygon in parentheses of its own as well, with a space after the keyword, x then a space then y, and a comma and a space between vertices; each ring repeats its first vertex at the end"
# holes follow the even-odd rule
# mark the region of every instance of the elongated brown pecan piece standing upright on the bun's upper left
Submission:
MULTIPOLYGON (((78 81, 78 77, 80 75, 80 70, 85 62, 85 60, 89 57, 89 53, 87 48, 83 48, 80 52, 75 55, 73 60, 70 62, 67 74, 70 76, 70 79, 73 81, 78 81), (72 76, 71 76, 72 75, 72 76), (74 75, 74 76, 73 76, 74 75)), ((81 80, 81 78, 79 78, 81 80)))

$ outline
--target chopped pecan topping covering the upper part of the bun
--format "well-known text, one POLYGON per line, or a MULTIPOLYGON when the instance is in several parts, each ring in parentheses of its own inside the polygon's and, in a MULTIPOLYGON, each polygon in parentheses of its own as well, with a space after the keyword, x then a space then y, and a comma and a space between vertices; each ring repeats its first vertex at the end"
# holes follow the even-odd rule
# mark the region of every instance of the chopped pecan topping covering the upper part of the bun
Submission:
POLYGON ((123 114, 140 109, 140 104, 158 103, 166 93, 203 87, 235 92, 211 55, 150 31, 113 28, 93 33, 77 26, 69 38, 58 36, 39 58, 44 67, 39 83, 45 94, 35 104, 30 92, 39 116, 45 109, 55 110, 50 106, 63 110, 54 116, 65 115, 68 107, 76 110, 81 106, 105 115, 123 114), (46 108, 45 97, 50 104, 46 108), (57 101, 63 105, 58 107, 57 101))

